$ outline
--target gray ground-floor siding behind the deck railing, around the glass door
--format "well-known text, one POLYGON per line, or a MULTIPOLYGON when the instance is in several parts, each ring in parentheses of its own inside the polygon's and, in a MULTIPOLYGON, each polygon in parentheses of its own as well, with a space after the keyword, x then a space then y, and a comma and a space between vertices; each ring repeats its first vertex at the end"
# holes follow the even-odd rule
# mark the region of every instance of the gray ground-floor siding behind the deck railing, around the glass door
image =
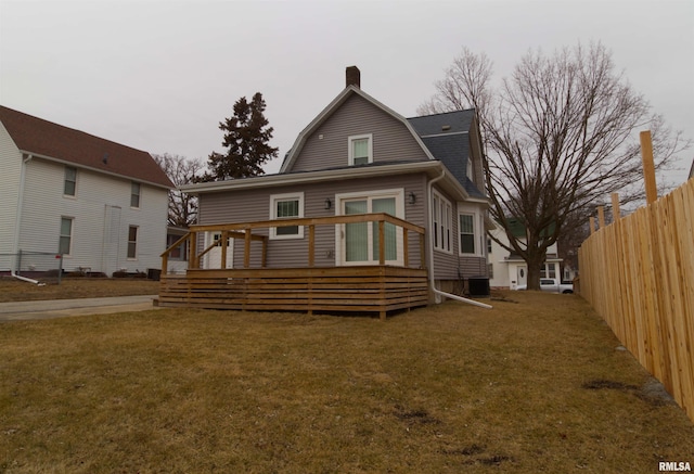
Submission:
MULTIPOLYGON (((200 197, 200 223, 231 223, 248 222, 270 219, 270 195, 304 192, 305 217, 329 217, 336 214, 335 195, 351 192, 368 192, 385 189, 404 190, 404 219, 417 226, 424 225, 426 190, 423 175, 401 175, 385 178, 370 178, 360 180, 342 180, 338 182, 321 182, 308 185, 277 187, 258 190, 243 190, 237 192, 202 194, 200 197), (415 204, 409 204, 407 196, 410 192, 416 195, 415 204), (333 203, 331 209, 325 209, 325 198, 333 203)), ((267 235, 267 229, 254 231, 267 235)), ((420 262, 419 240, 414 233, 410 238, 411 265, 420 262)), ((260 246, 252 244, 252 267, 260 265, 260 246)), ((243 267, 244 244, 234 242, 234 268, 243 267)), ((335 228, 321 226, 316 229, 316 266, 332 267, 335 265, 335 228)), ((268 267, 291 268, 303 267, 308 262, 308 231, 304 239, 270 240, 268 242, 268 267)))

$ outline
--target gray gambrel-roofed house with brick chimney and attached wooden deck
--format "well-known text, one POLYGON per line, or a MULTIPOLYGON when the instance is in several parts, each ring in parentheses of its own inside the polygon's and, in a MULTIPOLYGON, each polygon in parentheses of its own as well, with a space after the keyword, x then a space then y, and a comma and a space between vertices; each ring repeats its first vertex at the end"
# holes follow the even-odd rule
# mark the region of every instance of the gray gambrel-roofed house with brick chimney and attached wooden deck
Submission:
POLYGON ((358 68, 346 73, 345 89, 298 134, 279 174, 181 187, 198 196, 198 225, 191 228, 187 278, 163 279, 163 306, 368 310, 373 304, 383 316, 460 295, 466 279, 487 274, 488 201, 475 112, 404 118, 361 90, 358 68), (213 277, 219 296, 205 300, 191 281, 204 281, 209 294, 213 277), (267 290, 271 277, 285 286, 262 300, 228 294, 229 281, 258 278, 267 290), (319 280, 331 286, 320 304, 319 280), (291 295, 287 284, 295 285, 291 295), (273 305, 278 292, 284 297, 273 305))

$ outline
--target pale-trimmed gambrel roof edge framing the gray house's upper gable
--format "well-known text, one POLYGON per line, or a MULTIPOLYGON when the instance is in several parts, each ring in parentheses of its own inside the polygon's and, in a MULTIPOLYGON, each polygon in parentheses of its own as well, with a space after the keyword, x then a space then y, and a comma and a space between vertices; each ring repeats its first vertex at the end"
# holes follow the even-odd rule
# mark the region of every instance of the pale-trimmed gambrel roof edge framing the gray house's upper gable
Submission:
POLYGON ((347 86, 325 108, 323 108, 323 111, 320 114, 318 114, 316 118, 313 118, 313 120, 311 120, 311 123, 308 126, 306 126, 304 130, 299 132, 298 137, 296 138, 296 141, 294 142, 294 145, 284 157, 284 162, 282 163, 282 167, 280 168, 281 174, 288 172, 291 170, 292 165, 294 164, 297 156, 299 155, 308 137, 310 137, 310 134, 321 124, 323 124, 323 121, 325 121, 337 108, 339 108, 339 106, 343 103, 345 103, 347 99, 349 99, 354 94, 360 95, 362 99, 367 100, 368 102, 372 103, 376 107, 381 108, 386 114, 390 115, 396 120, 400 121, 410 131, 410 133, 412 133, 412 137, 422 148, 422 151, 424 152, 426 157, 428 159, 436 159, 432 155, 429 150, 426 148, 426 145, 422 142, 422 140, 420 139, 420 136, 414 131, 414 129, 412 128, 412 126, 410 125, 407 118, 404 118, 402 115, 398 114, 397 112, 393 111, 391 108, 387 107, 386 105, 382 104, 381 102, 378 102, 377 100, 375 100, 374 98, 372 98, 371 95, 362 91, 359 87, 347 86))

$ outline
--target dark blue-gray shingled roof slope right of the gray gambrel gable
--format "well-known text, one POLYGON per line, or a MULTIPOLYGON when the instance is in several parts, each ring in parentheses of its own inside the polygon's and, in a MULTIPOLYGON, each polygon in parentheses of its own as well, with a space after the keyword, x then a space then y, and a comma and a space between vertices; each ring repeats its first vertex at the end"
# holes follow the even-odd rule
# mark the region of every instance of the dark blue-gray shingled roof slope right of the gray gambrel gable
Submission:
POLYGON ((484 198, 485 195, 467 177, 470 159, 470 132, 475 119, 475 110, 447 112, 444 114, 411 117, 408 121, 436 159, 441 161, 461 182, 467 194, 484 198))

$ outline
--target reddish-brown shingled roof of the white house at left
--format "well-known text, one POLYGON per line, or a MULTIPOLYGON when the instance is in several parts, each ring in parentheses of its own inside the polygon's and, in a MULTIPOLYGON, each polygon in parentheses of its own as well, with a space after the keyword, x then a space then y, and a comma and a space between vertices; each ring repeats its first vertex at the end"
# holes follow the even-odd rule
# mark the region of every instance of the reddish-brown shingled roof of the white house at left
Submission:
POLYGON ((0 105, 0 121, 21 152, 162 188, 174 184, 141 150, 0 105))

